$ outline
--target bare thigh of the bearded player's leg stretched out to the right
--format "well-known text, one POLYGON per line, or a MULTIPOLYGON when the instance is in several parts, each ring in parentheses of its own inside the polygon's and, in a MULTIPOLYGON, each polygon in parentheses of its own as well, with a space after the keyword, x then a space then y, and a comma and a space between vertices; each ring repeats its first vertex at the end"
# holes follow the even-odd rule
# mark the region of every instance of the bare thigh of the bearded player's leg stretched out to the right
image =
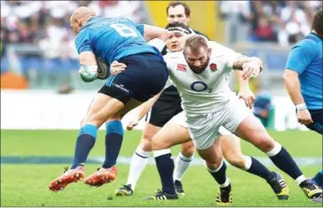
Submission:
POLYGON ((246 117, 238 126, 235 134, 243 140, 247 140, 251 144, 264 152, 268 152, 274 148, 275 141, 264 128, 264 125, 256 118, 256 116, 246 117))

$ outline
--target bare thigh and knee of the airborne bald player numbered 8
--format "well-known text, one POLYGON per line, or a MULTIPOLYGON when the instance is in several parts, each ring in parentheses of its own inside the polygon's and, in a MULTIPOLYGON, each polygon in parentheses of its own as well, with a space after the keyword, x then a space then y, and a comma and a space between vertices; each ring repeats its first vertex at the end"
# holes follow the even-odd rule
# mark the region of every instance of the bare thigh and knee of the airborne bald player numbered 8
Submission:
POLYGON ((124 104, 122 101, 114 99, 106 94, 97 93, 87 115, 83 118, 84 124, 94 124, 101 126, 109 117, 116 115, 124 104))

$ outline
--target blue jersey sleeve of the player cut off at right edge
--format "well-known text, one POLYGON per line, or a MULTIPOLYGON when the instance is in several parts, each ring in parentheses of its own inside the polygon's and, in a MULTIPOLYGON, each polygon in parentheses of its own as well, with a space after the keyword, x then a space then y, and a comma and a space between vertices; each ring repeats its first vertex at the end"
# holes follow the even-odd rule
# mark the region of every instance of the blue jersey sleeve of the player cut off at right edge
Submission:
POLYGON ((285 68, 302 74, 305 68, 311 63, 311 60, 314 59, 316 52, 317 47, 315 47, 314 42, 311 40, 303 40, 295 44, 289 52, 285 68))

